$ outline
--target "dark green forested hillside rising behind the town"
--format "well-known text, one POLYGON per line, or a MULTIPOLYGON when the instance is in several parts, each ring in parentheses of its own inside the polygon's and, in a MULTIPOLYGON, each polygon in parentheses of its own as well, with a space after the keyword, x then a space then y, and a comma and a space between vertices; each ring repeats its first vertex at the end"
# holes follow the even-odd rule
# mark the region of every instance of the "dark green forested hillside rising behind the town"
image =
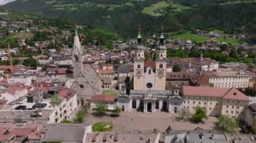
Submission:
POLYGON ((137 26, 141 27, 143 34, 160 32, 162 26, 166 32, 216 28, 228 34, 256 34, 254 0, 175 0, 161 3, 158 7, 156 3, 159 2, 18 0, 3 8, 61 17, 91 28, 108 29, 124 38, 134 38, 137 26), (153 14, 150 15, 150 12, 153 14))

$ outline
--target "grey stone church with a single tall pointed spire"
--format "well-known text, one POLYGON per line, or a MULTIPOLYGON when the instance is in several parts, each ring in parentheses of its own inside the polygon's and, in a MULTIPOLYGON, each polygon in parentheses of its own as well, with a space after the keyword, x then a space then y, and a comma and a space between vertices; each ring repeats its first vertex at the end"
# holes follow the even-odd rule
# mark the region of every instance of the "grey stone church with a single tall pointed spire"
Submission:
POLYGON ((101 93, 101 81, 98 74, 89 64, 82 61, 82 46, 79 42, 77 30, 75 30, 73 49, 73 78, 69 79, 65 86, 77 93, 77 103, 84 105, 93 95, 101 93))

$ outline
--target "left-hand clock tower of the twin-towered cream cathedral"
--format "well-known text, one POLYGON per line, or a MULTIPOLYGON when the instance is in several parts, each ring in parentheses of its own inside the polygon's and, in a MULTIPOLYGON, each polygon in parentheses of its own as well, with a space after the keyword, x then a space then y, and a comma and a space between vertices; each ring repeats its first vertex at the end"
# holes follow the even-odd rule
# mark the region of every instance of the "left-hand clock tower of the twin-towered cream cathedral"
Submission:
POLYGON ((133 89, 134 90, 143 90, 144 85, 144 51, 145 47, 141 44, 141 35, 140 29, 137 36, 137 48, 136 48, 136 57, 134 58, 134 79, 133 79, 133 89))

